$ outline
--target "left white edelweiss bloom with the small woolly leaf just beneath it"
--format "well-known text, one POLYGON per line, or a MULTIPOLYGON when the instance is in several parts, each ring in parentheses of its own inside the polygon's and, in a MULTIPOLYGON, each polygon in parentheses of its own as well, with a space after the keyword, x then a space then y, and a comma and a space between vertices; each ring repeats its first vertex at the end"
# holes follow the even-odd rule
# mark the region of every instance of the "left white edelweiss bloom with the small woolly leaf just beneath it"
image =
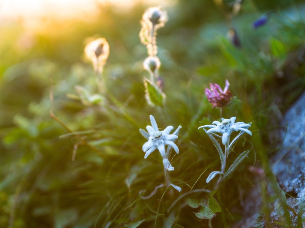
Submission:
POLYGON ((149 137, 148 141, 144 143, 142 147, 142 150, 145 152, 144 158, 147 158, 149 154, 158 149, 161 156, 163 157, 164 167, 169 171, 172 171, 174 170, 174 167, 171 166, 169 160, 166 157, 165 145, 170 145, 174 148, 176 153, 179 154, 179 148, 173 142, 173 140, 177 139, 178 136, 170 134, 170 131, 174 129, 173 126, 167 126, 163 131, 159 131, 155 118, 152 115, 150 115, 149 118, 152 126, 146 126, 149 137))

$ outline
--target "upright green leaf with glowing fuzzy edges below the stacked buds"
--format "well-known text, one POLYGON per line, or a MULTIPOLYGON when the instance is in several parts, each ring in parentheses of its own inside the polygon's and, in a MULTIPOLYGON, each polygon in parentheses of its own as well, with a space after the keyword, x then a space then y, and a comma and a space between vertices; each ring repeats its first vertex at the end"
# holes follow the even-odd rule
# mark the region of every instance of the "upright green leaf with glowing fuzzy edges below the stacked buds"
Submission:
POLYGON ((147 78, 144 78, 145 98, 149 105, 163 106, 165 94, 147 78))

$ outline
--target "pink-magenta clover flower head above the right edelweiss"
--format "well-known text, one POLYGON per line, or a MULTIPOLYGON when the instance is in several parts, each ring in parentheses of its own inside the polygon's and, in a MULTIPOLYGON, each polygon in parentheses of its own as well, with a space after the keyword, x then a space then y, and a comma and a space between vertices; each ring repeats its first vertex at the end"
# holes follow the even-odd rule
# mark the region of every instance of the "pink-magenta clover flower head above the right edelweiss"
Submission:
POLYGON ((210 83, 210 89, 205 89, 206 96, 208 97, 209 102, 213 105, 213 108, 224 107, 231 101, 233 95, 229 90, 229 85, 230 83, 226 79, 224 90, 222 90, 216 83, 214 83, 214 85, 210 83))

